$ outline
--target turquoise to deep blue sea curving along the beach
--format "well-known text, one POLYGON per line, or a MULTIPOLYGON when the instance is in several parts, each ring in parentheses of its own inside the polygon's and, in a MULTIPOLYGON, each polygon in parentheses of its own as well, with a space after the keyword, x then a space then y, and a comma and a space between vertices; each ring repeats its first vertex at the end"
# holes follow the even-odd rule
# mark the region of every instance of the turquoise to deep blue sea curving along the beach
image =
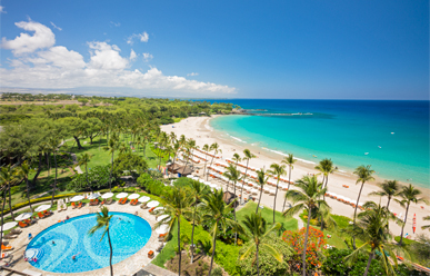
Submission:
POLYGON ((260 115, 211 120, 214 129, 243 142, 313 162, 331 158, 347 171, 372 165, 381 178, 430 188, 429 101, 216 101, 233 102, 260 115))

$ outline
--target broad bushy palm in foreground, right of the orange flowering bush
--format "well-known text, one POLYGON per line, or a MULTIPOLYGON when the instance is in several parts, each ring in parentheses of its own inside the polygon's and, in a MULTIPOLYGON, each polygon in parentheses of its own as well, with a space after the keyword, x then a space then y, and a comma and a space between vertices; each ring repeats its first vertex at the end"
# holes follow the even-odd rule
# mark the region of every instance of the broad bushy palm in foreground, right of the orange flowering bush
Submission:
POLYGON ((346 260, 349 264, 352 264, 360 254, 368 253, 368 265, 363 274, 363 276, 367 276, 374 254, 378 254, 380 256, 378 259, 382 264, 387 275, 396 275, 391 262, 394 262, 397 266, 396 256, 404 254, 404 252, 390 243, 392 236, 388 225, 392 215, 390 215, 387 207, 382 207, 374 203, 367 203, 367 207, 369 209, 359 215, 359 221, 350 228, 347 228, 347 231, 351 233, 352 236, 358 237, 364 244, 348 255, 346 260), (391 260, 389 259, 389 256, 392 256, 391 260))

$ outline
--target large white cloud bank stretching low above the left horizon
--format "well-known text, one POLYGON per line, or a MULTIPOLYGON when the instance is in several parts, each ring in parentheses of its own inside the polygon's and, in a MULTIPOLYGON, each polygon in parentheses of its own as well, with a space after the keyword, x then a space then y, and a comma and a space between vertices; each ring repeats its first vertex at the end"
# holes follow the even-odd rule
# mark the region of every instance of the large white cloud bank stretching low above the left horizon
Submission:
MULTIPOLYGON (((48 27, 36 22, 20 22, 17 26, 26 30, 33 30, 34 34, 30 37, 21 33, 14 40, 3 39, 6 41, 4 48, 12 50, 14 58, 8 60, 8 69, 0 67, 2 87, 32 89, 130 88, 139 90, 140 95, 150 92, 151 95, 178 97, 184 95, 189 97, 219 96, 220 93, 236 92, 233 87, 189 80, 179 76, 166 76, 156 67, 151 67, 147 71, 131 70, 130 62, 138 57, 134 50, 130 51, 129 57, 122 57, 120 48, 108 42, 88 42, 90 58, 86 61, 82 55, 77 51, 69 50, 64 46, 53 46, 54 36, 48 27), (19 39, 22 38, 27 40, 20 41, 19 39), (29 43, 32 41, 36 46, 29 43)), ((142 57, 150 59, 152 55, 142 53, 142 57)))

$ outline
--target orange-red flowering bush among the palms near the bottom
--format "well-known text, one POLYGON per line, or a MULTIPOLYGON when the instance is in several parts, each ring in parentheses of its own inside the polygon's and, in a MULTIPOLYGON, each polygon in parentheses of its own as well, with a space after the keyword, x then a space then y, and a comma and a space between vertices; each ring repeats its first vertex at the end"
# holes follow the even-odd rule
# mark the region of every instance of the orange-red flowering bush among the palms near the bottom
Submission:
MULTIPOLYGON (((284 231, 282 239, 292 247, 294 255, 291 259, 291 267, 300 269, 302 264, 302 253, 304 247, 306 227, 300 230, 284 231)), ((309 227, 308 244, 306 249, 307 269, 321 267, 322 252, 326 249, 327 240, 324 234, 313 227, 309 227)))

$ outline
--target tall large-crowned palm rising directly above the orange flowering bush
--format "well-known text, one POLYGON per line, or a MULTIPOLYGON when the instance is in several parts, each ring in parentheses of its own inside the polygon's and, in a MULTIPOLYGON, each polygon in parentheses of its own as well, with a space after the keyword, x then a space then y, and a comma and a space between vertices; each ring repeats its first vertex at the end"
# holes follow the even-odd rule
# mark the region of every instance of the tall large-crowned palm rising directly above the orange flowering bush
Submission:
POLYGON ((310 218, 312 216, 312 209, 319 208, 330 209, 326 200, 321 199, 326 194, 327 188, 322 188, 322 183, 318 183, 317 176, 304 176, 302 179, 296 181, 296 186, 300 190, 288 190, 286 197, 291 199, 294 206, 283 213, 286 217, 292 217, 302 209, 308 210, 308 224, 306 227, 303 254, 302 254, 302 275, 306 276, 306 252, 309 236, 310 218))

